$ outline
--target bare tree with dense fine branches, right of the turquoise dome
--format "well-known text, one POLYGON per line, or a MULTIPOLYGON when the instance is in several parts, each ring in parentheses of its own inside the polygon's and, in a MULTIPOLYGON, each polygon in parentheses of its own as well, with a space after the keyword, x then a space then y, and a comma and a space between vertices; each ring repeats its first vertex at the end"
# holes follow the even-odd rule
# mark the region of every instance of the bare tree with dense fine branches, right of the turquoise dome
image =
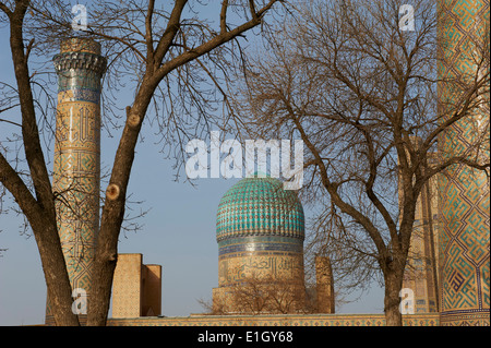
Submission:
POLYGON ((424 184, 457 163, 488 176, 490 168, 489 118, 476 125, 471 146, 427 165, 452 124, 489 113, 489 34, 474 43, 472 73, 438 81, 434 1, 414 3, 412 32, 399 28, 399 5, 300 5, 268 38, 267 53, 251 59, 233 103, 252 136, 304 142, 303 194, 323 206, 310 248, 330 255, 336 288, 366 287, 376 277, 387 325, 402 325, 399 291, 424 184), (438 82, 453 86, 444 108, 438 82))

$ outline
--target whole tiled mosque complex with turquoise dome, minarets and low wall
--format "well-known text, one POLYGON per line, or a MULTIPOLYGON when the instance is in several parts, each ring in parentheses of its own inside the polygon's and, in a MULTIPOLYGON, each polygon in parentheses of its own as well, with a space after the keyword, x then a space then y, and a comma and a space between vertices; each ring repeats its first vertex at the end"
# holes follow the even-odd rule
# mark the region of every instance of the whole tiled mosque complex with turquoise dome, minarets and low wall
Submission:
MULTIPOLYGON (((489 0, 438 4, 443 58, 439 75, 472 73, 472 43, 489 28, 489 0)), ((60 240, 72 288, 83 289, 89 301, 99 223, 99 97, 106 60, 99 44, 71 38, 61 43, 53 61, 59 86, 53 190, 67 194, 63 202, 71 203, 57 206, 60 240)), ((452 96, 452 91, 439 86, 441 100, 452 96)), ((486 118, 489 106, 476 113, 476 123, 486 118)), ((459 122, 451 128, 439 140, 440 153, 468 147, 472 127, 459 122)), ((489 148, 484 155, 489 158, 489 148)), ((404 280, 415 292, 416 311, 403 315, 404 325, 490 324, 489 193, 486 175, 464 165, 452 167, 423 190, 404 280)), ((304 236, 303 208, 295 192, 270 177, 242 179, 218 205, 218 286, 213 289, 213 305, 221 315, 160 317, 161 267, 144 265, 141 254, 120 254, 108 325, 384 325, 384 314, 334 314, 336 285, 330 260, 322 256, 315 260, 316 310, 304 313, 304 236), (294 305, 247 307, 243 293, 258 287, 259 293, 285 291, 294 305)), ((53 324, 49 299, 46 324, 53 324)))

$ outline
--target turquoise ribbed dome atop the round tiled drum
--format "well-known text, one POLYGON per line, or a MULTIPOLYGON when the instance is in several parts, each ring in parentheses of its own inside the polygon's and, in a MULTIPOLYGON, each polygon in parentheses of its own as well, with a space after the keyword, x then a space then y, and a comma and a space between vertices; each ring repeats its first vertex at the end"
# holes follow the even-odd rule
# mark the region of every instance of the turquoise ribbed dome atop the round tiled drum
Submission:
POLYGON ((274 178, 246 178, 221 197, 216 239, 252 236, 304 239, 303 207, 297 193, 274 178))

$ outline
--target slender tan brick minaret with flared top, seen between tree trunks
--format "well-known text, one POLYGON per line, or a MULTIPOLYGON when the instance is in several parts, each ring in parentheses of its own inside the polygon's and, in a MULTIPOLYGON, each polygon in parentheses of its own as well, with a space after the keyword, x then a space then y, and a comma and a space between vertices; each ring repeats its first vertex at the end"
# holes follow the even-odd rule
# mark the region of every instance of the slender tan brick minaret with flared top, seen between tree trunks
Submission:
MULTIPOLYGON (((106 59, 100 56, 98 43, 74 37, 61 43, 53 63, 58 74, 58 107, 52 188, 72 295, 81 297, 72 310, 81 314, 83 323, 99 228, 99 100, 106 59)), ((51 321, 48 299, 46 323, 51 321)))

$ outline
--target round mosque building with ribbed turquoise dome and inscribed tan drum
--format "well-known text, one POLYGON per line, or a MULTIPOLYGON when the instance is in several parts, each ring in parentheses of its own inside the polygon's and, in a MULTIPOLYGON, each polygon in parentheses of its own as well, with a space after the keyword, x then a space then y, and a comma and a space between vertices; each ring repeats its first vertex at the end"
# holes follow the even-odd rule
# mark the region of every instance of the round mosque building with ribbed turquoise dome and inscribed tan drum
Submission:
MULTIPOLYGON (((295 313, 306 309, 304 216, 296 192, 284 190, 282 181, 270 177, 242 179, 221 197, 216 225, 214 312, 295 313), (258 297, 264 301, 251 302, 258 297)), ((319 289, 330 288, 332 279, 321 279, 319 289)), ((326 312, 333 313, 334 299, 327 299, 322 296, 319 303, 333 304, 326 312)))

